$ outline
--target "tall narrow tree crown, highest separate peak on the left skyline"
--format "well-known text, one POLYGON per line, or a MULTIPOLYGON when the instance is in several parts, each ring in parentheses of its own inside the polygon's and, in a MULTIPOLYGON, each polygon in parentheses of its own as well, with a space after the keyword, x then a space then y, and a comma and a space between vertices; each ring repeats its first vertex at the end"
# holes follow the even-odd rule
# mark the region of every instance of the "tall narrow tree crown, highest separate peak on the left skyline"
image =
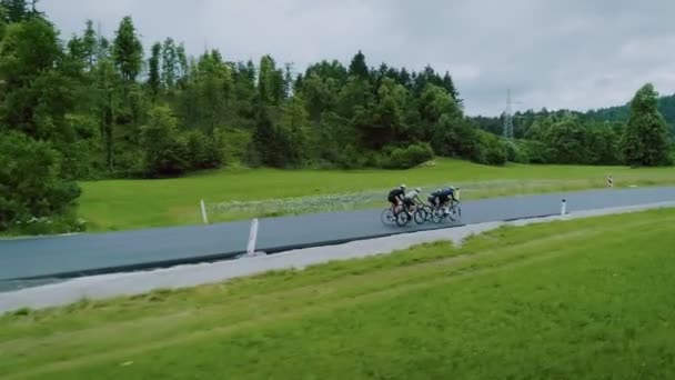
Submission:
POLYGON ((131 17, 127 16, 122 19, 112 44, 114 63, 122 79, 135 81, 143 63, 143 46, 137 36, 131 17))

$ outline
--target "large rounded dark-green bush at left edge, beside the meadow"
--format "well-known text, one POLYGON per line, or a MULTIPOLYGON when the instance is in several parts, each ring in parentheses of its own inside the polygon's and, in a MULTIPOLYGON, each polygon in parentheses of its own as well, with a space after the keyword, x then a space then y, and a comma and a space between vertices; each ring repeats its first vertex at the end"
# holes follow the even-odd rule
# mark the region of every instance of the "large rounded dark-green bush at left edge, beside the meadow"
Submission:
POLYGON ((33 218, 64 217, 81 189, 63 178, 61 156, 19 132, 0 134, 0 230, 33 218))

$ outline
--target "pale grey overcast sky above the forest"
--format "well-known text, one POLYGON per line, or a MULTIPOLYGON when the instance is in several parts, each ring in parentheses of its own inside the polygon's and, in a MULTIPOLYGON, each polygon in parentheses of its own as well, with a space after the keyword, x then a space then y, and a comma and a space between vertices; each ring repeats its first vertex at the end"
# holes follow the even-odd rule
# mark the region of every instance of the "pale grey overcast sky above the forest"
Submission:
POLYGON ((63 37, 130 14, 143 43, 165 37, 228 60, 271 53, 280 63, 362 49, 382 61, 449 70, 469 114, 623 104, 651 81, 675 92, 674 0, 42 0, 63 37))

